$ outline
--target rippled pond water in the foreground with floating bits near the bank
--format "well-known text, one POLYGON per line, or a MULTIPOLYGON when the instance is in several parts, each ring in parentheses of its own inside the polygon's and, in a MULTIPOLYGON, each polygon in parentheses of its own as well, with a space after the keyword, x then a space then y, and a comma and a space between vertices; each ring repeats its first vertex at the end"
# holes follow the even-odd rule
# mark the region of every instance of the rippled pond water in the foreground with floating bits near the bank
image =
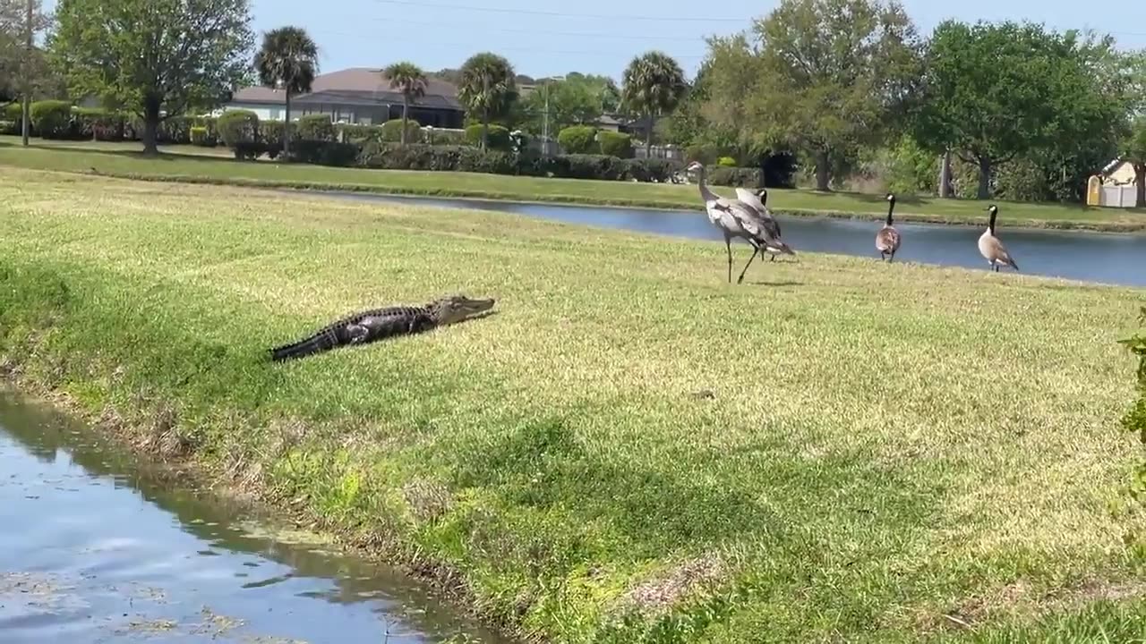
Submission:
POLYGON ((173 489, 0 391, 0 642, 507 642, 409 578, 173 489))

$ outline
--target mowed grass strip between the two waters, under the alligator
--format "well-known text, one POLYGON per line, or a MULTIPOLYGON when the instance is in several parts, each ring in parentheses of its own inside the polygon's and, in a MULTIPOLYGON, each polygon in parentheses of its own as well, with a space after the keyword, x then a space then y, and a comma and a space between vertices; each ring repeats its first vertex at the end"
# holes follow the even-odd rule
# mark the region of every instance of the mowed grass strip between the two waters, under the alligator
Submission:
POLYGON ((1141 521, 1112 510, 1141 290, 817 253, 729 285, 719 242, 6 178, 0 361, 457 571, 492 622, 579 643, 1146 629, 1141 521), (266 361, 454 291, 499 313, 266 361))

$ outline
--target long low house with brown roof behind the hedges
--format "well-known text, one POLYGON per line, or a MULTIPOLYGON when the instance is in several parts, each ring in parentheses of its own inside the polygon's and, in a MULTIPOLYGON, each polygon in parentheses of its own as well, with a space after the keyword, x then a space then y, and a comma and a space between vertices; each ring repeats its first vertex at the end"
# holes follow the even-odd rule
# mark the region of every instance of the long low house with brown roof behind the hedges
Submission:
MULTIPOLYGON (((281 89, 244 87, 217 110, 251 110, 260 120, 282 120, 286 107, 281 89)), ((351 68, 315 77, 311 92, 291 96, 291 120, 305 115, 325 113, 335 123, 377 125, 402 118, 402 94, 390 88, 380 69, 351 68)), ((445 80, 430 78, 425 95, 410 100, 409 118, 421 125, 460 128, 465 109, 457 101, 457 88, 445 80)))

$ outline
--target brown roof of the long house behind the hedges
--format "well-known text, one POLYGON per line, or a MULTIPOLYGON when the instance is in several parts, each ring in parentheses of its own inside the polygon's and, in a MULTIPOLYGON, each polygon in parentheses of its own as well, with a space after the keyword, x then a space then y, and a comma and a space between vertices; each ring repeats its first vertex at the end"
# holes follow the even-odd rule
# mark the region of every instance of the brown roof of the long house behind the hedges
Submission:
MULTIPOLYGON (((280 89, 269 87, 244 87, 235 92, 234 103, 269 103, 284 104, 286 97, 280 89)), ((377 104, 379 102, 402 102, 402 94, 390 88, 390 80, 376 68, 350 68, 330 73, 319 74, 311 84, 311 93, 299 94, 291 103, 338 102, 346 104, 377 104)), ((457 87, 438 78, 426 79, 425 96, 410 102, 410 105, 462 109, 457 102, 457 87)))

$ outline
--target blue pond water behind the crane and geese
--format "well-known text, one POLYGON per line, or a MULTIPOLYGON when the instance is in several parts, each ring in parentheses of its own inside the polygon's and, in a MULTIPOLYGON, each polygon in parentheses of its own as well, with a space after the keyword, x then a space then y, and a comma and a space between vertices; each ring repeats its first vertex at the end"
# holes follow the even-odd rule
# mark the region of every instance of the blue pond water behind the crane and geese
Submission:
MULTIPOLYGON (((708 222, 699 204, 694 211, 672 211, 366 193, 321 194, 355 201, 492 210, 637 233, 717 242, 723 239, 720 231, 708 222)), ((874 239, 881 223, 829 217, 777 215, 776 219, 784 230, 784 241, 796 252, 811 251, 879 259, 874 239)), ((896 222, 895 227, 903 235, 903 245, 895 254, 895 261, 989 269, 987 260, 979 254, 976 246, 983 228, 906 222, 896 222)), ((997 233, 1023 274, 1146 286, 1146 235, 1007 228, 1005 218, 1000 218, 997 233)), ((746 260, 747 256, 738 261, 743 265, 746 260)), ((720 249, 720 252, 714 251, 713 261, 714 270, 724 270, 724 249, 720 249)))

